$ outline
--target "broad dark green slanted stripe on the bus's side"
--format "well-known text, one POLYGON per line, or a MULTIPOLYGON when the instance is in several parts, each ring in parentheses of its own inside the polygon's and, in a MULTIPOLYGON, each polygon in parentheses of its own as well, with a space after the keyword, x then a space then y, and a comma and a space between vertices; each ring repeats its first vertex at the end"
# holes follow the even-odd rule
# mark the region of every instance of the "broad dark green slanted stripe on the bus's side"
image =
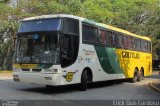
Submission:
POLYGON ((123 73, 115 48, 94 46, 102 69, 108 74, 123 73))

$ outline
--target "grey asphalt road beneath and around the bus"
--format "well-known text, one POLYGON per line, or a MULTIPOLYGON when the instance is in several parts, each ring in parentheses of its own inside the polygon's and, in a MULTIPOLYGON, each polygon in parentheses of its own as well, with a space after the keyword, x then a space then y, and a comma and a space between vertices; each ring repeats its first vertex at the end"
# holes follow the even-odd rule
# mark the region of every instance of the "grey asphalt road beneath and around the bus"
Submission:
POLYGON ((99 103, 103 105, 106 100, 112 100, 110 103, 113 100, 157 100, 160 103, 160 94, 147 85, 153 80, 159 80, 159 77, 150 76, 137 83, 130 83, 126 80, 93 83, 89 84, 87 91, 79 91, 76 85, 47 89, 43 85, 0 79, 0 100, 25 100, 23 105, 35 102, 37 105, 47 103, 48 105, 54 104, 54 106, 59 104, 63 106, 93 106, 99 105, 99 103), (29 100, 34 101, 30 102, 29 100), (104 101, 102 102, 102 100, 104 101))

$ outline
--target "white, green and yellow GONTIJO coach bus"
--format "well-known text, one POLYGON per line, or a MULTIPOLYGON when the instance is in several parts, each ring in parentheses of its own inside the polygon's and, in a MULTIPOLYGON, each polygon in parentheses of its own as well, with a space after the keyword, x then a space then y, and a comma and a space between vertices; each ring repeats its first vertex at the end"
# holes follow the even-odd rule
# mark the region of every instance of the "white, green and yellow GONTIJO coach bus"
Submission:
POLYGON ((13 80, 60 86, 114 79, 140 81, 152 73, 151 39, 86 18, 42 15, 20 22, 13 80))

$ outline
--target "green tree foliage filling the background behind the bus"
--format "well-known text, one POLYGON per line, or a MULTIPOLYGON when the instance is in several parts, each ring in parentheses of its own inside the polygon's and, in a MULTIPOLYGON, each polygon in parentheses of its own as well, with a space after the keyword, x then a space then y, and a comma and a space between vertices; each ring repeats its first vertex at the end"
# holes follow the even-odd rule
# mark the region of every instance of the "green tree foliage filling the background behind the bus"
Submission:
POLYGON ((72 14, 146 35, 153 42, 153 59, 160 59, 159 0, 1 0, 0 67, 10 69, 18 22, 46 14, 72 14), (157 39, 158 38, 158 39, 157 39))

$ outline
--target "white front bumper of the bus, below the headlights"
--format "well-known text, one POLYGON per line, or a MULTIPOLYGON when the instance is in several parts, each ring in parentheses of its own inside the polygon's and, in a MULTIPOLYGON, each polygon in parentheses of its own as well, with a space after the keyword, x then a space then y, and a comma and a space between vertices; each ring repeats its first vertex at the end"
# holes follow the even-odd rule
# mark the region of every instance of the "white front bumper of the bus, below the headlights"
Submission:
POLYGON ((13 80, 17 82, 25 82, 42 85, 61 85, 59 73, 23 73, 14 72, 13 80))

